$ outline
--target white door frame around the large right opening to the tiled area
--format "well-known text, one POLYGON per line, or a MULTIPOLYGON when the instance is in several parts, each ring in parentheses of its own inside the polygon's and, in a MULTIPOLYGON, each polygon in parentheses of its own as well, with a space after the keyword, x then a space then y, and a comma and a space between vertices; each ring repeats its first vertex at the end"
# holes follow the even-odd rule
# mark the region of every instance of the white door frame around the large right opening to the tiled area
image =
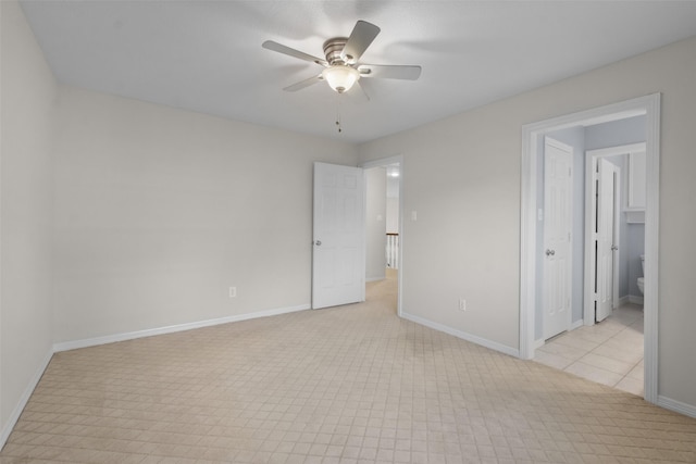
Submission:
POLYGON ((646 209, 644 294, 644 398, 658 402, 658 238, 660 177, 660 93, 608 104, 522 126, 520 230, 520 358, 534 358, 536 288, 536 153, 549 131, 594 125, 632 116, 646 116, 646 209))

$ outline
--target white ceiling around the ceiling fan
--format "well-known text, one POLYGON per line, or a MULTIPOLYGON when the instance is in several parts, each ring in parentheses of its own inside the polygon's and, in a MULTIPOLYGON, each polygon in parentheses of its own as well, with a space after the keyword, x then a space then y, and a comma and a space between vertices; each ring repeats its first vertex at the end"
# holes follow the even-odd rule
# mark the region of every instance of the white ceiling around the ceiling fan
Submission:
POLYGON ((371 140, 696 35, 696 2, 23 1, 59 81, 350 142, 371 140), (357 20, 382 28, 362 62, 420 64, 417 81, 361 79, 370 101, 321 67, 357 20), (349 92, 350 93, 350 92, 349 92), (340 100, 340 101, 339 101, 340 100), (343 133, 335 126, 340 112, 343 133))

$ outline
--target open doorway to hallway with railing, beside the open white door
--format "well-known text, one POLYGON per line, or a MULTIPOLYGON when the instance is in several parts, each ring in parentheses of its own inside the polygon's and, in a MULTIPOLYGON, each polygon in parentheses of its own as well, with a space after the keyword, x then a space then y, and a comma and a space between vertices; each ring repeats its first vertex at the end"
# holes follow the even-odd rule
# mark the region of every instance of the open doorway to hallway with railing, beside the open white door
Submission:
MULTIPOLYGON (((374 223, 372 228, 375 230, 368 234, 373 234, 374 246, 368 247, 368 253, 371 256, 366 256, 365 262, 375 261, 381 263, 381 272, 384 272, 386 280, 396 280, 396 293, 397 293, 397 314, 401 316, 401 279, 403 275, 403 156, 396 155, 384 158, 375 161, 365 162, 360 165, 365 170, 366 177, 370 176, 370 171, 375 170, 383 175, 384 189, 377 195, 380 198, 371 199, 370 192, 365 192, 365 201, 368 202, 366 211, 372 212, 374 217, 368 217, 368 229, 371 228, 370 223, 374 223), (378 168, 378 171, 377 171, 378 168), (370 203, 383 203, 380 211, 373 210, 370 203), (395 211, 396 210, 396 211, 395 211), (382 216, 382 217, 378 217, 382 216), (372 251, 370 251, 372 249, 372 251)), ((369 188, 369 180, 365 183, 365 188, 369 188)), ((368 237, 368 242, 370 242, 368 237)), ((375 265, 372 266, 374 274, 376 269, 375 265)), ((370 273, 365 268, 365 273, 370 273)), ((365 276, 365 280, 370 281, 370 275, 365 276)), ((374 279, 372 279, 374 280, 374 279)))

